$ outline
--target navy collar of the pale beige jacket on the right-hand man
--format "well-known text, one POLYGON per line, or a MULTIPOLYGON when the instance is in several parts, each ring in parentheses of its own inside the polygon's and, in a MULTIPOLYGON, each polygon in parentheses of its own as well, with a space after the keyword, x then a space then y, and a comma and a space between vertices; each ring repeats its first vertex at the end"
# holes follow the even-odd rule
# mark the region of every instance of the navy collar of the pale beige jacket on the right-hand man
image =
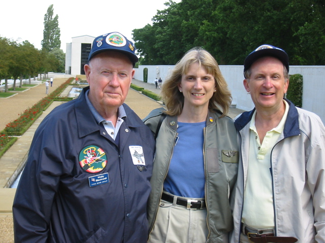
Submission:
MULTIPOLYGON (((287 99, 284 100, 289 104, 289 111, 284 124, 283 135, 285 138, 300 135, 298 110, 291 101, 287 99)), ((238 117, 238 119, 235 120, 235 127, 237 131, 241 131, 250 122, 254 111, 255 108, 251 111, 245 111, 238 117)))

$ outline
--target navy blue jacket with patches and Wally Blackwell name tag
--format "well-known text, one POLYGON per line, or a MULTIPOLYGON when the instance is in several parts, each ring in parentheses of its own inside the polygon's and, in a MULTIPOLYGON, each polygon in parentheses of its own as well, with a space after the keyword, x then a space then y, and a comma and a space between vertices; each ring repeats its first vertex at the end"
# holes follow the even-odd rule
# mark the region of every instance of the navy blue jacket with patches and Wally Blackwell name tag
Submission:
POLYGON ((86 104, 88 89, 53 109, 35 133, 14 199, 16 242, 147 240, 153 135, 123 104, 116 145, 86 104), (135 146, 143 149, 136 163, 135 146))

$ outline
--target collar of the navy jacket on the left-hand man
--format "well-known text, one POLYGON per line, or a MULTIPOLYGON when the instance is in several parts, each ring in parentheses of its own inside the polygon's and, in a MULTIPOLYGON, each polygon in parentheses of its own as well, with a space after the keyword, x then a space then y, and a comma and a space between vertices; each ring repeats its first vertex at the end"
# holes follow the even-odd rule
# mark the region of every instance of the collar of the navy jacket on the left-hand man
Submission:
MULTIPOLYGON (((87 136, 90 133, 99 131, 102 125, 98 125, 96 119, 92 115, 87 103, 86 103, 86 91, 89 90, 89 86, 82 89, 79 97, 75 103, 75 113, 77 118, 77 128, 79 137, 87 136)), ((133 111, 126 104, 123 104, 127 117, 124 119, 124 123, 127 127, 142 127, 143 123, 139 117, 133 114, 133 111), (142 124, 141 124, 142 123, 142 124)))

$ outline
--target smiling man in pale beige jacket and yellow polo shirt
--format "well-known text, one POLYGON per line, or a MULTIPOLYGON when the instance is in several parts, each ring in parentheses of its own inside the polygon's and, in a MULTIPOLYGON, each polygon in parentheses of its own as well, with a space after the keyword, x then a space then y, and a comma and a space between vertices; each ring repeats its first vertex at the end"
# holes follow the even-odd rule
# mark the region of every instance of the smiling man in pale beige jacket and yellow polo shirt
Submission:
POLYGON ((325 128, 295 107, 287 54, 263 45, 244 63, 255 108, 235 121, 241 158, 231 242, 325 242, 325 128))

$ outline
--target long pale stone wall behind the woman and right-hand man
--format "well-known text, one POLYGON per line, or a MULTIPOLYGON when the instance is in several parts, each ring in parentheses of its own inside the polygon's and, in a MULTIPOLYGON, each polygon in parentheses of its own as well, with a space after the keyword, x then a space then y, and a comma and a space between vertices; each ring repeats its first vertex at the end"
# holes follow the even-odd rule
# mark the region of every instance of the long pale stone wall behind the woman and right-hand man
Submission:
MULTIPOLYGON (((157 67, 159 68, 158 77, 160 76, 164 82, 174 65, 140 65, 139 68, 136 68, 136 79, 143 81, 145 67, 148 68, 148 83, 154 83, 157 67)), ((219 67, 229 85, 233 104, 236 104, 236 108, 251 110, 254 104, 243 86, 244 67, 242 65, 220 65, 219 67)), ((319 115, 325 124, 325 66, 290 66, 289 74, 297 73, 302 74, 304 80, 302 108, 319 115)))

